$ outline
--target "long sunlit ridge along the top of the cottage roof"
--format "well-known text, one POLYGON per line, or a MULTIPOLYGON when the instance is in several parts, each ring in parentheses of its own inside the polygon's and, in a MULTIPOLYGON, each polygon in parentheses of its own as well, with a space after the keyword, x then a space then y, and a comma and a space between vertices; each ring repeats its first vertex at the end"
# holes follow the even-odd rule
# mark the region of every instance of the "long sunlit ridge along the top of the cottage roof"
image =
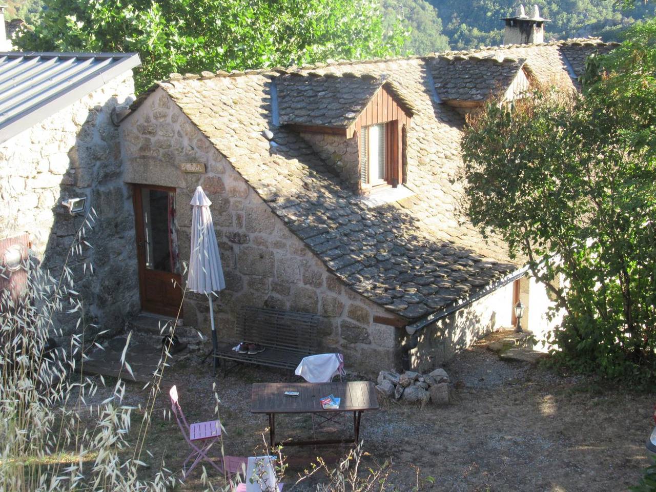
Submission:
MULTIPOLYGON (((558 39, 556 41, 548 41, 546 43, 535 43, 535 44, 516 44, 516 45, 497 45, 497 46, 482 46, 476 49, 471 50, 460 50, 460 51, 442 51, 442 52, 432 52, 423 55, 411 55, 411 56, 386 56, 384 58, 367 58, 365 60, 328 60, 327 62, 318 62, 316 64, 308 65, 292 65, 289 67, 266 67, 266 68, 255 68, 249 70, 233 70, 231 72, 225 72, 224 70, 218 70, 218 72, 209 72, 204 71, 200 74, 197 73, 169 73, 169 78, 159 81, 158 83, 165 83, 169 81, 180 81, 180 80, 207 80, 214 78, 222 77, 243 77, 246 75, 270 75, 275 77, 278 75, 285 75, 287 73, 297 73, 299 75, 305 75, 304 72, 316 70, 318 68, 330 68, 338 67, 344 65, 367 65, 367 64, 377 64, 384 62, 398 62, 405 60, 430 60, 433 58, 450 58, 455 56, 464 56, 468 58, 473 54, 478 54, 485 51, 503 51, 514 48, 529 48, 529 47, 544 47, 544 46, 577 46, 577 45, 594 45, 594 46, 618 46, 620 43, 616 41, 605 42, 602 41, 601 37, 575 37, 570 39, 558 39)), ((485 56, 480 59, 485 58, 494 58, 493 55, 485 56)), ((513 57, 506 57, 513 58, 513 57)), ((504 58, 505 59, 505 58, 504 58)), ((518 60, 516 60, 518 61, 518 60)), ((346 72, 351 73, 351 72, 346 72)), ((346 75, 346 73, 340 74, 340 76, 346 75)), ((325 76, 323 74, 321 76, 325 76)), ((331 76, 331 75, 328 75, 331 76)))

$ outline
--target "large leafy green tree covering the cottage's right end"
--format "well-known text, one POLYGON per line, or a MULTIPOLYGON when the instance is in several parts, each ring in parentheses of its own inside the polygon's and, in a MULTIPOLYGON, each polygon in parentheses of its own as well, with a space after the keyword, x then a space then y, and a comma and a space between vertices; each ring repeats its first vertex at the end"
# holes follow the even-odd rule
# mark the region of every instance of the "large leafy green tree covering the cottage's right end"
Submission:
POLYGON ((462 142, 472 222, 565 310, 556 359, 642 382, 656 377, 655 73, 650 20, 588 60, 584 95, 491 102, 462 142))

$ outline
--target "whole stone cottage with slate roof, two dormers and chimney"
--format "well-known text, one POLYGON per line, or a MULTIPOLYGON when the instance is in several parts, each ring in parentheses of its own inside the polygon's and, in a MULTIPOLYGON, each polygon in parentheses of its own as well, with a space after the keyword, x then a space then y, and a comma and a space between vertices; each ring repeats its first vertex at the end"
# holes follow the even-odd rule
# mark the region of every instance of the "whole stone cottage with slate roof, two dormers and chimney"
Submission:
MULTIPOLYGON (((525 22, 539 39, 544 19, 525 14, 506 20, 506 33, 528 31, 525 22)), ((459 214, 464 115, 538 83, 575 90, 586 56, 608 49, 571 39, 172 74, 121 121, 142 308, 171 316, 182 302, 171 280, 184 279, 201 185, 226 275, 215 304, 223 340, 238 341, 239 306, 311 312, 323 320, 321 346, 353 369, 423 370, 514 323, 520 299, 523 327, 542 336, 545 289, 459 214)), ((207 300, 186 293, 183 316, 207 327, 207 300)))

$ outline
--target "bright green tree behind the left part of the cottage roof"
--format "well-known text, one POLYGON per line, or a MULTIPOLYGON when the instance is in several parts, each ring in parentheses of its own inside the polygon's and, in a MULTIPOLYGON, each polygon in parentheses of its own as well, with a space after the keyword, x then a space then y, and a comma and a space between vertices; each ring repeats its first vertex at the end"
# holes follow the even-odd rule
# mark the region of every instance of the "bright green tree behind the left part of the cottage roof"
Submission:
POLYGON ((139 52, 142 91, 171 72, 245 70, 396 54, 375 0, 44 0, 22 49, 139 52))

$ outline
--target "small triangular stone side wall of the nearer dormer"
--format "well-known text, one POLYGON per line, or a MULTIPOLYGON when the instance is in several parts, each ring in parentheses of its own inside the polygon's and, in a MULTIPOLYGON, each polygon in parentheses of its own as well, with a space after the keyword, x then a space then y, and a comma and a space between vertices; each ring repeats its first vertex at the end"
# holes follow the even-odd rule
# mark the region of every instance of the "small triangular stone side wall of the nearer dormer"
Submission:
POLYGON ((357 191, 360 183, 358 137, 329 133, 301 133, 300 136, 314 148, 321 158, 333 166, 337 174, 357 191))

